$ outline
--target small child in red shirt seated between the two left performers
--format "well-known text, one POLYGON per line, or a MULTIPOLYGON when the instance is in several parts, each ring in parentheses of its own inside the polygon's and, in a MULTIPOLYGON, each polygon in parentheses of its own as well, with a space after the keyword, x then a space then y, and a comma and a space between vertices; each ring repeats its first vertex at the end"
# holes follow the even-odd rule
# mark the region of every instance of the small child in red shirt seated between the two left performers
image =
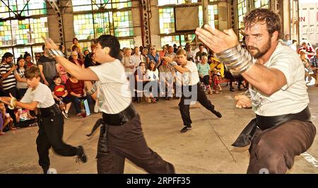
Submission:
POLYGON ((69 108, 71 107, 71 98, 69 98, 69 93, 64 86, 61 84, 61 78, 59 76, 54 76, 54 83, 50 87, 52 91, 55 103, 61 108, 61 112, 66 119, 69 119, 69 108), (64 104, 66 106, 64 107, 64 104))

